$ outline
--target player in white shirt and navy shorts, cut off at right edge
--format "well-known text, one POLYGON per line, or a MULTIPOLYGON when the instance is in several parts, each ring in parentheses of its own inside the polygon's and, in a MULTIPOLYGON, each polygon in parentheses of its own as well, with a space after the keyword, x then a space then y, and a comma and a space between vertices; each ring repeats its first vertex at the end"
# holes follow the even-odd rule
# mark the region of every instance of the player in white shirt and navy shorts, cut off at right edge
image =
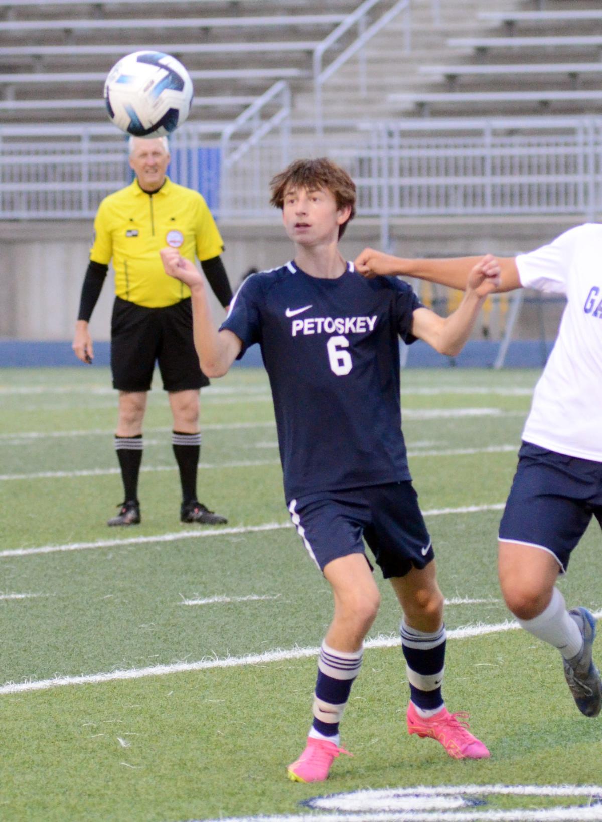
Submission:
MULTIPOLYGON (((530 634, 562 654, 577 708, 602 707, 592 660, 595 618, 567 611, 556 587, 592 515, 602 525, 602 225, 586 224, 529 254, 499 259, 499 292, 531 288, 563 294, 567 306, 539 378, 512 489, 499 527, 499 580, 507 607, 530 634)), ((409 260, 365 249, 367 276, 410 275, 464 289, 475 257, 409 260)))

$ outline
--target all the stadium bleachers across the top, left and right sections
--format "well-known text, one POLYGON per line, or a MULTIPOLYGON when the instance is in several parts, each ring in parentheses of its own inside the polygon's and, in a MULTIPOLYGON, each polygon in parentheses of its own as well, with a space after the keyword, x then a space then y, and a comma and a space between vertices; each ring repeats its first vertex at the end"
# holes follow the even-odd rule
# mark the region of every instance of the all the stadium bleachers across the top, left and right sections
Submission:
MULTIPOLYGON (((335 44, 331 60, 393 2, 368 5, 361 27, 335 44)), ((46 122, 64 121, 53 103, 60 99, 68 100, 69 121, 99 122, 102 109, 92 100, 100 99, 106 72, 123 53, 149 47, 182 59, 197 81, 204 101, 192 119, 229 122, 271 81, 288 79, 294 120, 308 122, 316 116, 319 44, 358 6, 357 0, 335 0, 327 10, 316 0, 302 8, 292 0, 168 0, 169 14, 150 4, 142 16, 141 0, 0 3, 0 123, 35 122, 40 112, 46 122)), ((408 15, 411 44, 408 20, 396 16, 320 86, 331 123, 349 120, 351 106, 365 118, 449 116, 458 107, 474 116, 487 114, 492 103, 497 113, 601 110, 602 35, 592 30, 600 8, 579 0, 551 0, 544 8, 505 0, 492 11, 480 0, 412 0, 408 15), (433 53, 443 58, 440 67, 433 53), (577 93, 566 94, 572 90, 577 93)))

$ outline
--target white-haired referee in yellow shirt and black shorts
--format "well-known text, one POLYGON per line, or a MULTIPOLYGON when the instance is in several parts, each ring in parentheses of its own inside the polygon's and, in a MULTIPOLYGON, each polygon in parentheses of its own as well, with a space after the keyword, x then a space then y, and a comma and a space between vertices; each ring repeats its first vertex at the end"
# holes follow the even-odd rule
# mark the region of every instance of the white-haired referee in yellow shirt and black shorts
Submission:
POLYGON ((88 323, 113 258, 115 302, 111 321, 111 371, 119 391, 115 449, 123 479, 124 500, 109 525, 141 521, 138 476, 144 440, 142 423, 155 362, 174 418, 172 445, 182 484, 180 520, 222 524, 197 499, 201 453, 199 389, 209 385, 201 372, 192 340, 190 290, 164 273, 159 250, 179 248, 194 262, 195 254, 221 305, 232 298, 220 254, 224 242, 203 197, 178 186, 166 175, 169 144, 165 137, 131 137, 131 185, 105 197, 95 217, 95 238, 81 289, 73 350, 91 363, 94 349, 88 323))

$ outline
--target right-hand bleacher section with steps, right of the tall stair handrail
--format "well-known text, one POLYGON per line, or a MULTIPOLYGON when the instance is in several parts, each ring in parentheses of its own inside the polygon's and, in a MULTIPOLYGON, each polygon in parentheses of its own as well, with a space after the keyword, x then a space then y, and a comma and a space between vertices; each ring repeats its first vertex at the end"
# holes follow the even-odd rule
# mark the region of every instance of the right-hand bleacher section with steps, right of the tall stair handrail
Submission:
MULTIPOLYGON (((430 10, 413 4, 410 52, 399 48, 397 24, 368 44, 368 79, 357 103, 367 118, 378 119, 488 116, 493 104, 495 113, 508 115, 600 113, 602 32, 596 21, 602 10, 580 0, 539 5, 516 0, 492 11, 484 2, 442 2, 441 19, 433 24, 430 10), (566 94, 573 90, 578 93, 566 94)), ((354 70, 347 65, 333 78, 333 97, 344 94, 354 70)), ((333 116, 343 109, 342 98, 338 105, 328 99, 333 116)))

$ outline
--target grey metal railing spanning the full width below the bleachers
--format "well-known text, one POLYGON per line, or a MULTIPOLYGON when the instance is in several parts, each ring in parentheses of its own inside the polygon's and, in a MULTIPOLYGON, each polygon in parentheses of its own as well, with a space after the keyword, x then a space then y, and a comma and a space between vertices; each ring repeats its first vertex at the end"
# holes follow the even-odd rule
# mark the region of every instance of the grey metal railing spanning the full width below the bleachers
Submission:
MULTIPOLYGON (((317 136, 291 132, 285 83, 263 98, 217 134, 186 124, 171 141, 173 178, 211 186, 221 219, 271 219, 271 176, 290 159, 321 155, 350 170, 358 215, 379 220, 383 245, 396 218, 602 211, 602 117, 340 123, 317 136)), ((0 219, 87 218, 130 179, 125 138, 110 125, 44 136, 0 128, 0 219)))

